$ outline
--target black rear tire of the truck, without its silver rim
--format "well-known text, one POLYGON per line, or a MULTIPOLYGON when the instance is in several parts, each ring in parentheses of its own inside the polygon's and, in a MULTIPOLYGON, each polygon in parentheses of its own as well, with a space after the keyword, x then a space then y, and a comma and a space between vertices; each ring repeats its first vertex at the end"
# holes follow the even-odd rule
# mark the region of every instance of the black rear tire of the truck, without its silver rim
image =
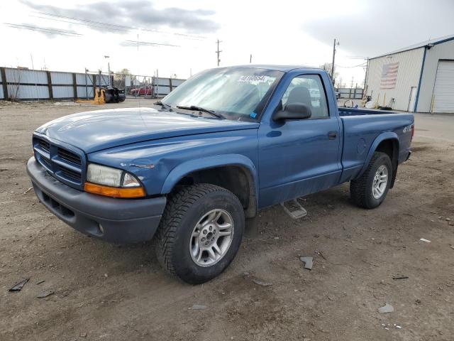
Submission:
POLYGON ((370 159, 366 171, 360 178, 350 181, 350 197, 359 207, 375 208, 380 206, 388 193, 391 179, 392 164, 389 156, 386 153, 376 151, 370 159), (387 184, 382 195, 380 197, 374 197, 372 193, 372 184, 374 183, 375 174, 380 166, 385 166, 387 168, 387 184))

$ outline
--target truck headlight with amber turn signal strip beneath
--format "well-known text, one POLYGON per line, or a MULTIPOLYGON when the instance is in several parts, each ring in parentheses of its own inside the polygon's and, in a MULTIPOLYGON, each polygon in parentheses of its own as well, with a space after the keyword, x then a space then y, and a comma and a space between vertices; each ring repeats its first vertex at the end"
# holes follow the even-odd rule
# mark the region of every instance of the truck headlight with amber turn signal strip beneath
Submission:
POLYGON ((109 197, 144 197, 145 190, 131 173, 121 169, 89 163, 87 183, 84 189, 89 193, 109 197))

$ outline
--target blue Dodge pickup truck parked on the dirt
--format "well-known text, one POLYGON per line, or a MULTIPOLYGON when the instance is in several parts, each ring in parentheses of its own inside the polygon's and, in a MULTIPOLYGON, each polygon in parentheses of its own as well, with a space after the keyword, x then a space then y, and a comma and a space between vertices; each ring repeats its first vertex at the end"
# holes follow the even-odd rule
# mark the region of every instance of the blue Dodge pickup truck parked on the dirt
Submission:
POLYGON ((61 117, 33 132, 27 171, 40 202, 109 242, 155 237, 188 283, 218 276, 258 210, 350 181, 379 206, 410 156, 412 114, 340 109, 309 67, 206 70, 149 108, 61 117))

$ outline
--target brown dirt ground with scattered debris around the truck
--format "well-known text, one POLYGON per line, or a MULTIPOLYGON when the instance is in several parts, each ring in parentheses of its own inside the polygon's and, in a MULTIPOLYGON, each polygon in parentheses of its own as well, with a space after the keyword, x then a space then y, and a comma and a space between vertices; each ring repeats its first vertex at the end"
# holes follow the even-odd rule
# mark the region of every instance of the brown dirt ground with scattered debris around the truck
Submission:
POLYGON ((153 243, 85 237, 28 190, 33 129, 94 109, 0 102, 0 340, 454 340, 454 117, 416 115, 414 153, 377 209, 352 205, 345 184, 306 197, 298 221, 264 210, 233 264, 190 286, 153 243))

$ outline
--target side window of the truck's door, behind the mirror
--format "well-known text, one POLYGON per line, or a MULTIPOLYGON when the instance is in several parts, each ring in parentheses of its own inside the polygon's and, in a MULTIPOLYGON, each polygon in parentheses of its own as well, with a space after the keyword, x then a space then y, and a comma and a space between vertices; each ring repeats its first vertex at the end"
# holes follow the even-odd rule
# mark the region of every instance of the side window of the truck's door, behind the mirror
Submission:
POLYGON ((304 103, 312 111, 312 118, 329 117, 326 93, 319 75, 301 75, 294 77, 284 96, 282 107, 289 103, 304 103))

